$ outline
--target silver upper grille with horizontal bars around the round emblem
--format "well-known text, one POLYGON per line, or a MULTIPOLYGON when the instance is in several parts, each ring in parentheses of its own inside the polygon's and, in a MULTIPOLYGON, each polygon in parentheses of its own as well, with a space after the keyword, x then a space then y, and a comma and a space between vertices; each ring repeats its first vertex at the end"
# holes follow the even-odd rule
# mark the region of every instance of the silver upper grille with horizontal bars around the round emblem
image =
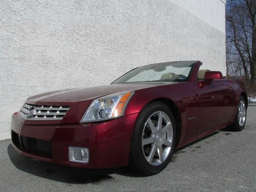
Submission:
POLYGON ((20 116, 27 120, 61 120, 67 113, 70 106, 56 105, 31 105, 25 103, 20 110, 20 116), (28 109, 35 107, 35 112, 31 117, 27 117, 28 109))

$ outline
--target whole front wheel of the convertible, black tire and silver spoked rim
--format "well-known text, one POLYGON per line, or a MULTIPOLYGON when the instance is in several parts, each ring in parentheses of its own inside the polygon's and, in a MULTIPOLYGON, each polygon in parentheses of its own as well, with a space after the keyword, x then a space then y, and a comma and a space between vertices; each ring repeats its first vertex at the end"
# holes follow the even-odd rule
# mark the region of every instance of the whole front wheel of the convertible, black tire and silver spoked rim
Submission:
POLYGON ((128 167, 143 175, 159 173, 169 164, 175 144, 176 125, 171 110, 162 102, 150 103, 137 118, 128 167))

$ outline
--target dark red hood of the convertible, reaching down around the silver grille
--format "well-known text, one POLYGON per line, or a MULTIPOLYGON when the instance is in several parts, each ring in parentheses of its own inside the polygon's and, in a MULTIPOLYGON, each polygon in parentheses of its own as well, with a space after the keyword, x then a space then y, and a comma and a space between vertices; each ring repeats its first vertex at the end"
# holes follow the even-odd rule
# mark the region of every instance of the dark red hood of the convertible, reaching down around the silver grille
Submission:
POLYGON ((46 92, 29 97, 26 103, 31 105, 46 106, 69 106, 67 113, 62 120, 30 120, 24 119, 19 115, 19 120, 24 125, 30 124, 70 124, 79 123, 85 110, 92 103, 93 99, 109 95, 112 93, 135 91, 149 87, 161 86, 166 84, 176 84, 178 82, 154 82, 154 83, 126 83, 110 84, 98 87, 65 89, 60 91, 46 92))

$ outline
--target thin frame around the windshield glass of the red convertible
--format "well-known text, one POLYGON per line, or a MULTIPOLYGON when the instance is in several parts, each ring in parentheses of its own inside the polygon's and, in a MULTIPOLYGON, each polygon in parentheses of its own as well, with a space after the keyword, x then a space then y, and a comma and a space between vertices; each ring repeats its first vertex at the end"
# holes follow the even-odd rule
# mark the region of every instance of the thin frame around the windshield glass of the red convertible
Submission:
POLYGON ((118 78, 117 78, 115 81, 113 81, 111 84, 155 83, 155 82, 156 82, 156 83, 159 83, 159 82, 188 82, 189 79, 190 79, 190 75, 191 75, 191 73, 192 73, 192 71, 193 71, 193 68, 194 68, 196 62, 197 62, 197 61, 172 61, 172 62, 164 62, 164 63, 153 63, 153 64, 150 64, 150 65, 144 65, 144 66, 136 67, 136 68, 133 68, 132 70, 128 71, 128 72, 125 73, 124 75, 118 77, 118 78), (193 66, 191 67, 191 69, 190 69, 190 71, 189 71, 189 74, 188 74, 188 76, 187 76, 187 78, 186 78, 185 81, 166 81, 166 80, 165 80, 165 81, 160 81, 160 80, 156 80, 156 81, 138 81, 138 82, 115 83, 118 79, 120 79, 121 77, 125 76, 126 74, 130 73, 131 71, 133 71, 133 70, 135 70, 135 69, 137 69, 137 68, 146 67, 146 66, 152 66, 152 65, 156 65, 156 66, 164 65, 164 64, 167 65, 167 64, 169 64, 169 63, 178 63, 178 62, 181 62, 181 63, 182 63, 182 62, 192 62, 191 65, 193 65, 193 66))

